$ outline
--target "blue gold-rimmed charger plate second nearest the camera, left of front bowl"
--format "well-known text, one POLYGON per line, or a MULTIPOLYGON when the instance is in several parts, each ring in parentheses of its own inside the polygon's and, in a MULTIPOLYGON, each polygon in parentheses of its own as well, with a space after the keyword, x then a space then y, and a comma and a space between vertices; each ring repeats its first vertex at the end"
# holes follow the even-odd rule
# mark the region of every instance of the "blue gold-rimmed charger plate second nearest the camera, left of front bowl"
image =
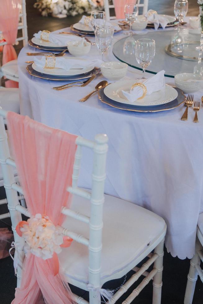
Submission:
POLYGON ((56 75, 48 75, 45 73, 37 72, 33 69, 32 64, 27 65, 26 67, 28 73, 34 77, 46 79, 46 80, 57 80, 57 81, 69 81, 69 80, 81 80, 81 79, 87 79, 91 78, 93 75, 97 75, 100 72, 100 68, 95 67, 92 71, 76 75, 76 76, 56 76, 56 75))

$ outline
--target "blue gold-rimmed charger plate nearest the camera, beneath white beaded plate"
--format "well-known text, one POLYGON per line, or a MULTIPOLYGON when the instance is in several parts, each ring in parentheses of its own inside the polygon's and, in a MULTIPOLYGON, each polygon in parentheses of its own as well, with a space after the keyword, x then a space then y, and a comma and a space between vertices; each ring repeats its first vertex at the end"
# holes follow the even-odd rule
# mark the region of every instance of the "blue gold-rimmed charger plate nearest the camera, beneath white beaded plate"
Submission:
POLYGON ((160 112, 160 111, 167 111, 172 110, 180 105, 182 105, 185 100, 186 96, 184 95, 183 91, 178 89, 177 87, 174 87, 176 91, 178 92, 178 96, 173 101, 164 104, 164 105, 157 105, 157 106, 136 106, 136 105, 128 105, 128 104, 122 104, 117 101, 113 101, 112 99, 108 98, 104 94, 104 88, 100 89, 98 91, 98 98, 101 102, 105 103, 106 105, 110 105, 113 108, 120 109, 120 110, 126 110, 126 111, 133 111, 133 112, 160 112))

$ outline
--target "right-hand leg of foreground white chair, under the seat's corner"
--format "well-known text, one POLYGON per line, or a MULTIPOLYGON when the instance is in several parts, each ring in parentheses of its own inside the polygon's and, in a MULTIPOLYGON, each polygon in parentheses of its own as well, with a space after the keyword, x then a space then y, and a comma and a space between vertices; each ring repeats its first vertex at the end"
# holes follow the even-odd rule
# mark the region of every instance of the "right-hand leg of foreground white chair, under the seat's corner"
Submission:
POLYGON ((154 268, 158 270, 153 279, 153 300, 152 304, 161 304, 161 288, 162 288, 162 272, 163 272, 163 256, 164 256, 164 239, 154 249, 154 253, 158 254, 158 258, 154 262, 154 268))

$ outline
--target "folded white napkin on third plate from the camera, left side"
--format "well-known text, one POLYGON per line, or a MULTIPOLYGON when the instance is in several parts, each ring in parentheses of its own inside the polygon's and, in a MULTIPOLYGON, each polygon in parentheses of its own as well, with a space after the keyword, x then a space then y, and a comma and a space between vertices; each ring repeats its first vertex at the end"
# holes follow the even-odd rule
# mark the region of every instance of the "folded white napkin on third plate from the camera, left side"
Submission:
MULTIPOLYGON (((34 37, 41 39, 42 31, 39 31, 38 33, 34 34, 34 37)), ((81 41, 81 37, 76 35, 65 35, 65 34, 56 34, 56 33, 50 33, 49 34, 49 41, 56 43, 57 45, 66 46, 68 42, 70 41, 81 41)))

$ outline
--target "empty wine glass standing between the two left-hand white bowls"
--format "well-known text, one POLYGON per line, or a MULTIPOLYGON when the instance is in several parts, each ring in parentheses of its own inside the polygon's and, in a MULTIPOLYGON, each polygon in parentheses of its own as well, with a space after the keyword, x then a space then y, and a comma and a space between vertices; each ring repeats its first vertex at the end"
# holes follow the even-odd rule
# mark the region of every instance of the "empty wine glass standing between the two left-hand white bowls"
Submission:
POLYGON ((111 26, 97 26, 95 30, 95 42, 98 49, 102 53, 104 61, 104 53, 111 47, 114 29, 111 26))

